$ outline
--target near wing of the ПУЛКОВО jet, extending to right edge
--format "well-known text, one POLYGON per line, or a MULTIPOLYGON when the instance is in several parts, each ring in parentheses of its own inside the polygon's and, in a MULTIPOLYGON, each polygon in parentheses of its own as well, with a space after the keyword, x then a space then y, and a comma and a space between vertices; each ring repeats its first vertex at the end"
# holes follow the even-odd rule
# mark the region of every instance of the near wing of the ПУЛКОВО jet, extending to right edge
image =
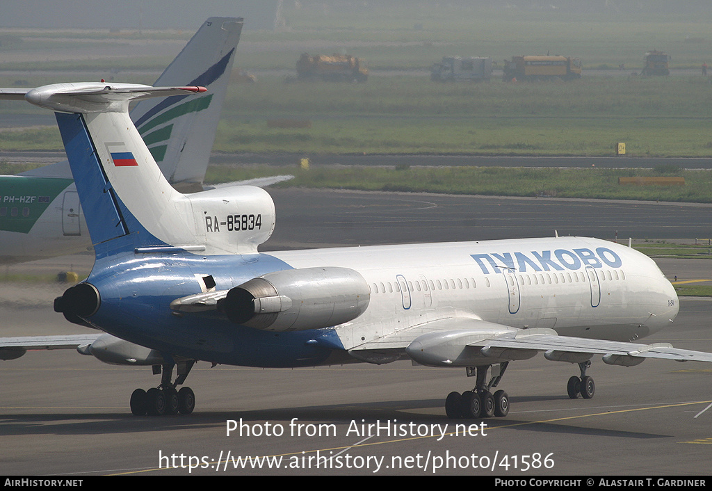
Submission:
POLYGON ((712 362, 712 353, 674 348, 669 343, 639 344, 560 336, 553 329, 515 329, 480 319, 452 317, 429 321, 352 348, 355 358, 379 359, 405 351, 429 366, 476 366, 498 360, 524 360, 540 351, 553 361, 573 363, 603 355, 612 365, 633 366, 644 358, 712 362))

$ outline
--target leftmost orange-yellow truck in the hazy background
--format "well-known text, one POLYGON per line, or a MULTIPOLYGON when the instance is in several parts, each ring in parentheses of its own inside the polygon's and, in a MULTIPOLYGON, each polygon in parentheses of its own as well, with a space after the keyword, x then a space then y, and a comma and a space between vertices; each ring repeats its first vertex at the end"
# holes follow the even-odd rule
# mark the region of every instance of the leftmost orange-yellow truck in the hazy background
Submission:
POLYGON ((300 80, 365 82, 368 68, 363 58, 350 55, 310 55, 304 53, 297 61, 300 80))

